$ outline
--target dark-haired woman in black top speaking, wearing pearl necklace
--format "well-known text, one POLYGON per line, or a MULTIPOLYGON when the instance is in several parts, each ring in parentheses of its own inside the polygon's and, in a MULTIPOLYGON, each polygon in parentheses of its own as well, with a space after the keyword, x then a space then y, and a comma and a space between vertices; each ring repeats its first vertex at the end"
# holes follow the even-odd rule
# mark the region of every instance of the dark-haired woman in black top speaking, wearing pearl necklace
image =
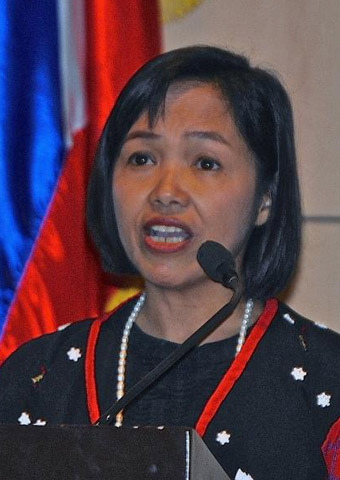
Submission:
POLYGON ((236 480, 322 479, 324 457, 335 472, 339 336, 272 298, 301 224, 279 81, 213 47, 146 64, 102 134, 88 223, 105 268, 139 272, 144 294, 21 347, 1 371, 0 419, 95 422, 230 300, 196 260, 214 240, 235 257, 241 302, 116 425, 193 426, 236 480))

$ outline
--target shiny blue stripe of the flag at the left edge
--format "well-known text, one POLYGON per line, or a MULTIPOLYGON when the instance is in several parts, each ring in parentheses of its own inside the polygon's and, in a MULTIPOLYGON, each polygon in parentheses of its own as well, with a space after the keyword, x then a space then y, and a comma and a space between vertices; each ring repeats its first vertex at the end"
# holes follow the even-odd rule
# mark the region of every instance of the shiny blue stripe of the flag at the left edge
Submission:
POLYGON ((0 330, 63 160, 55 0, 0 7, 0 330))

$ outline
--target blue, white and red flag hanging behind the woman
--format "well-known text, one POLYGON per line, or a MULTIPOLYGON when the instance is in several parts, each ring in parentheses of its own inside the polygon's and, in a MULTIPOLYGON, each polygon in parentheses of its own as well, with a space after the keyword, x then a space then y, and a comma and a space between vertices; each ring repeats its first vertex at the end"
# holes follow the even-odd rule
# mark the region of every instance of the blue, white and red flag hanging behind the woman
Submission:
POLYGON ((101 129, 159 53, 157 0, 3 0, 0 7, 0 360, 100 313, 110 279, 86 235, 101 129))

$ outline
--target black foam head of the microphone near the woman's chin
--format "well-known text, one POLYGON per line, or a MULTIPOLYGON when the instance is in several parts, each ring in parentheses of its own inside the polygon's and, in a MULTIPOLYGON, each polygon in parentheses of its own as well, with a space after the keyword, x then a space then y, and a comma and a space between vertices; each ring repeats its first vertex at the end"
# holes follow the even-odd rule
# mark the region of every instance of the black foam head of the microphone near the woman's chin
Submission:
POLYGON ((197 261, 214 282, 233 288, 238 277, 233 255, 223 245, 212 240, 202 243, 197 252, 197 261))

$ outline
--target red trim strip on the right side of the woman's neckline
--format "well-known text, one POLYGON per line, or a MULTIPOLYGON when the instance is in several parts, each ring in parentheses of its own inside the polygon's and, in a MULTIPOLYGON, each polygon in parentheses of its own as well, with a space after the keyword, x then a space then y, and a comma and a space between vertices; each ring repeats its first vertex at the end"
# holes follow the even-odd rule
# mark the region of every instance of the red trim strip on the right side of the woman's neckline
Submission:
POLYGON ((266 301, 264 310, 255 323, 254 328, 245 341, 240 353, 234 359, 216 390, 207 401, 195 426, 195 430, 201 437, 203 437, 209 423, 221 406, 221 403, 226 399, 227 395, 244 372, 244 369, 251 359, 258 343, 271 324, 277 312, 277 308, 278 301, 276 299, 266 301))

